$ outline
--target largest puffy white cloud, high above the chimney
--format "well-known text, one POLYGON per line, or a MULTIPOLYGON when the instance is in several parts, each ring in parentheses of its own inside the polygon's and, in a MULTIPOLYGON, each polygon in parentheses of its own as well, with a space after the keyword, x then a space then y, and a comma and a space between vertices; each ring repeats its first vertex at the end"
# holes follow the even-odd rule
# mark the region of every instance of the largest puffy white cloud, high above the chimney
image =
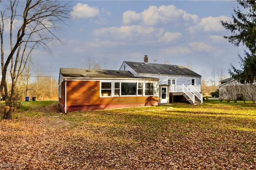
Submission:
POLYGON ((135 11, 126 11, 123 13, 124 24, 136 24, 138 22, 148 26, 158 24, 186 24, 192 22, 196 24, 200 21, 197 15, 186 13, 186 11, 177 9, 174 5, 169 6, 149 6, 143 12, 136 13, 135 11))

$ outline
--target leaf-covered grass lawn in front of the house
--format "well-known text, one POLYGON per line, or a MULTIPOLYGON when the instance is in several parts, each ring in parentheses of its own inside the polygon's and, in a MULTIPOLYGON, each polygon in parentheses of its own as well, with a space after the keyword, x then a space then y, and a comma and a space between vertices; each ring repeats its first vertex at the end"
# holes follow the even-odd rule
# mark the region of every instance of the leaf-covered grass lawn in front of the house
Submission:
POLYGON ((36 102, 24 102, 12 121, 1 121, 1 168, 256 169, 256 107, 250 102, 66 115, 56 103, 36 102))

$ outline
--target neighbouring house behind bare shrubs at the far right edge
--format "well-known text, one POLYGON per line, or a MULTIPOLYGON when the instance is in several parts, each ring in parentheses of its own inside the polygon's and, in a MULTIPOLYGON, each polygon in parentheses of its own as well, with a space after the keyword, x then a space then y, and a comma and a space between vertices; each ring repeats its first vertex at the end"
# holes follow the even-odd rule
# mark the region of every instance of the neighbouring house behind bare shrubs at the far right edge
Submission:
POLYGON ((252 100, 256 101, 256 83, 242 84, 230 77, 220 81, 220 100, 252 100))

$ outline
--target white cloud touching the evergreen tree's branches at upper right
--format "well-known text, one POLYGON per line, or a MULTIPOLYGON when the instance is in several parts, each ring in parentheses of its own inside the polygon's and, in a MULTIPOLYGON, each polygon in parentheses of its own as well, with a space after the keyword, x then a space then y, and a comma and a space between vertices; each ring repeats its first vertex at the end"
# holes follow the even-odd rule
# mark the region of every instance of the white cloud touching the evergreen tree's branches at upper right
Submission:
POLYGON ((190 33, 194 32, 220 32, 224 31, 225 28, 220 23, 220 20, 231 21, 231 18, 226 16, 202 18, 201 22, 195 26, 189 27, 187 30, 190 33))

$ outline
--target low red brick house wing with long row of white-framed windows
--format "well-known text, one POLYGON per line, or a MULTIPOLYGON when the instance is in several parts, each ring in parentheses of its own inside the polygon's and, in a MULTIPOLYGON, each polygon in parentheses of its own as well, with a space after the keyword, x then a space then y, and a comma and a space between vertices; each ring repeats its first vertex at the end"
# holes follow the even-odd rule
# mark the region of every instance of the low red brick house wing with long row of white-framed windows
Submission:
POLYGON ((158 78, 130 71, 60 68, 63 113, 158 105, 158 78))

